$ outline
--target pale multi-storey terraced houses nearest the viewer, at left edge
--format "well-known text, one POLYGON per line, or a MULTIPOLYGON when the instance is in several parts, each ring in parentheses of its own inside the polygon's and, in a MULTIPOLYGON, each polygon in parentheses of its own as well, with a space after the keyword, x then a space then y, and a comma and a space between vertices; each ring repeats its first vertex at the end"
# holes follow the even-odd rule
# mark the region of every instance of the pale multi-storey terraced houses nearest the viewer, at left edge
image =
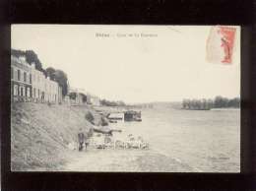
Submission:
POLYGON ((62 89, 30 65, 25 56, 11 56, 12 101, 62 102, 62 89))

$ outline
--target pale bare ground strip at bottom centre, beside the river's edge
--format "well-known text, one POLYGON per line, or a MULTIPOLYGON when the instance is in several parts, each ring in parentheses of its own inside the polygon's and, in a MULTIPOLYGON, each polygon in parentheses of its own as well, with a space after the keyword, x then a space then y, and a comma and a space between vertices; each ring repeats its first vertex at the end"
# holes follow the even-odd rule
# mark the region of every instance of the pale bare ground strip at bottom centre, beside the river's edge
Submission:
POLYGON ((71 161, 61 171, 187 172, 193 171, 193 169, 175 159, 169 159, 153 151, 107 149, 74 152, 71 161))

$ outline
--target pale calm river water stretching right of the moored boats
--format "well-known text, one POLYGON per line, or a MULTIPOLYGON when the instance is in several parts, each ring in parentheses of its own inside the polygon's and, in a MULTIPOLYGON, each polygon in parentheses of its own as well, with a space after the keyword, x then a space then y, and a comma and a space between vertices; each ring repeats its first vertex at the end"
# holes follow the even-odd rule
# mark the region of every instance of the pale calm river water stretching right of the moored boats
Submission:
POLYGON ((123 135, 142 136, 150 150, 192 171, 240 171, 239 109, 148 108, 142 110, 142 122, 119 121, 111 126, 122 129, 123 135))

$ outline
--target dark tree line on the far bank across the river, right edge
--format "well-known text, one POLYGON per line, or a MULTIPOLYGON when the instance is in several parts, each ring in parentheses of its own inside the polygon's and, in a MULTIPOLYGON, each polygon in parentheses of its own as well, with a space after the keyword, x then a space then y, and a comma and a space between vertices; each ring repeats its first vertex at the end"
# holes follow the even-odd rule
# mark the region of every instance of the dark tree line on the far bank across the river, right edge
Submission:
POLYGON ((240 98, 226 98, 224 96, 216 96, 214 99, 183 99, 182 108, 185 109, 211 109, 211 108, 226 108, 240 107, 240 98))

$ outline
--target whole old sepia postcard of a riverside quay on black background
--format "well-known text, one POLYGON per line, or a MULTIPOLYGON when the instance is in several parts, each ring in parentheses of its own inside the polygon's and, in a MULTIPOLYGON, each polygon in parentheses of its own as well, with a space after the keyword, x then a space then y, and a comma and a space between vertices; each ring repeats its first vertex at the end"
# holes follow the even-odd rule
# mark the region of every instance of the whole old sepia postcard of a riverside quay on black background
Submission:
POLYGON ((10 67, 12 171, 240 172, 239 26, 12 25, 10 67))

